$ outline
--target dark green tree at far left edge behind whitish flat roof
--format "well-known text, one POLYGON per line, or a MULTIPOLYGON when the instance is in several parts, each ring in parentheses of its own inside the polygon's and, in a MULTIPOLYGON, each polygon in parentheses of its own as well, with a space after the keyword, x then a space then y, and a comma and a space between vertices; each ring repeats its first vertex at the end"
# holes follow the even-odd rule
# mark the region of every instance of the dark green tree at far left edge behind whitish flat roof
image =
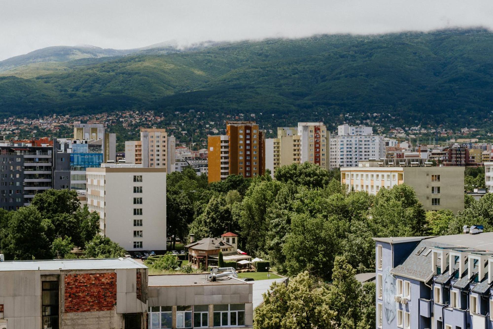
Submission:
POLYGON ((25 206, 10 213, 8 226, 1 241, 6 259, 32 260, 50 256, 41 214, 34 206, 25 206))

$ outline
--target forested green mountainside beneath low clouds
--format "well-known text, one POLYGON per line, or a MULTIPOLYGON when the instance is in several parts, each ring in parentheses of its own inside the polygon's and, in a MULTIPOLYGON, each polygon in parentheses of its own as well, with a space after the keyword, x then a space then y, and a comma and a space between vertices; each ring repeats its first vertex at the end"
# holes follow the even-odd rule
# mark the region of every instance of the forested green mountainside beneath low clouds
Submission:
POLYGON ((394 124, 490 125, 492 53, 492 33, 448 30, 21 66, 0 77, 0 113, 194 109, 286 122, 383 113, 394 124))

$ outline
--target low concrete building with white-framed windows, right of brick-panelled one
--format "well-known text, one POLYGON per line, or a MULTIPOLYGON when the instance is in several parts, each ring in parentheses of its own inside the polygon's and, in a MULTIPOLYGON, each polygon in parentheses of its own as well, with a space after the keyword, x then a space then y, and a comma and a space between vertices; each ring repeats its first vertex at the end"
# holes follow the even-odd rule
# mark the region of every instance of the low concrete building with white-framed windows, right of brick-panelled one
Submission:
POLYGON ((235 278, 149 276, 148 328, 253 328, 252 299, 253 284, 235 278))

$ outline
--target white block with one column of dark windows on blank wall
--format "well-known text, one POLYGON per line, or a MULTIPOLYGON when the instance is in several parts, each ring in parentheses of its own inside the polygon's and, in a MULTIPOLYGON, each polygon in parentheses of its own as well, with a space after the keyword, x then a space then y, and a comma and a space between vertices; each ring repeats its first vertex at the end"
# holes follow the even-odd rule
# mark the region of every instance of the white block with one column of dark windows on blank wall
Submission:
POLYGON ((102 164, 87 168, 87 206, 101 234, 126 250, 166 250, 166 168, 102 164))

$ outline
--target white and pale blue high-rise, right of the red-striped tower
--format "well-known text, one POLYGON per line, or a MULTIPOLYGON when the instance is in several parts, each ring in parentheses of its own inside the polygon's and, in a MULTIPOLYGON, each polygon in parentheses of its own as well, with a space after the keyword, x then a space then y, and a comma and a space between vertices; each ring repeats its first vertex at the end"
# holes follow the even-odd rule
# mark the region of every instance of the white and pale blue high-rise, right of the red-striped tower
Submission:
POLYGON ((384 137, 367 126, 339 125, 330 140, 330 167, 356 167, 359 161, 385 157, 384 137))

